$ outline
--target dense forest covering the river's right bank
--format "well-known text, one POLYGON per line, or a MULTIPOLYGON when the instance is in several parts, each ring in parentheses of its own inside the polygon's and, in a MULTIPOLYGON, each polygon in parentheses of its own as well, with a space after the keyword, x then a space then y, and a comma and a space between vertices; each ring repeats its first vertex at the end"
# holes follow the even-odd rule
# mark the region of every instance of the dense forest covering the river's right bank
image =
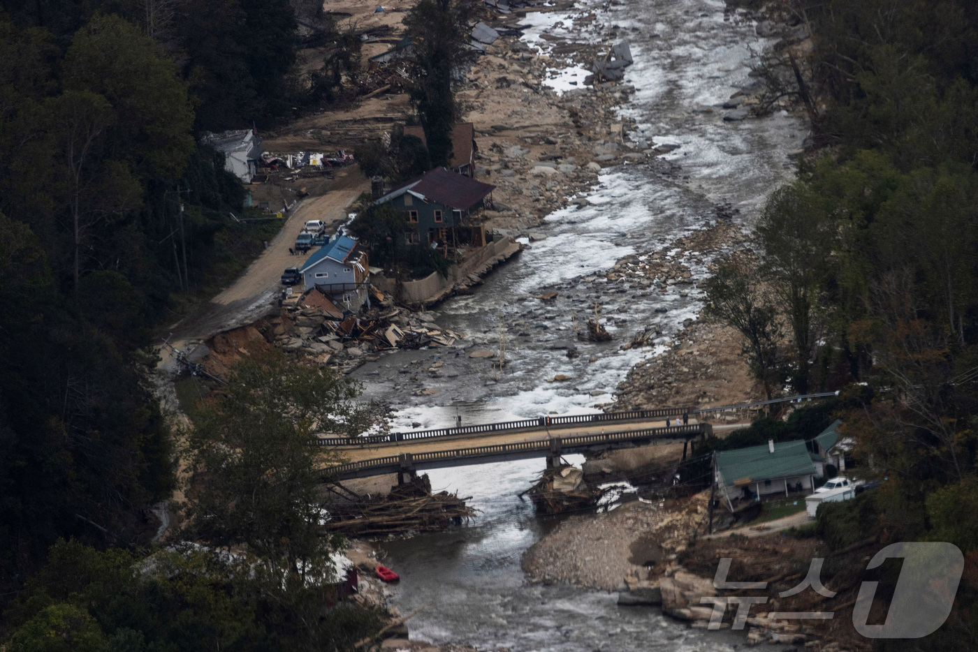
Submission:
MULTIPOLYGON (((804 22, 812 47, 767 55, 759 73, 805 107, 810 147, 796 181, 758 217, 754 251, 707 283, 705 312, 740 332, 769 395, 839 390, 833 410, 797 421, 798 432, 843 418, 854 456, 886 479, 840 503, 852 533, 826 543, 873 532, 880 543, 943 541, 964 552, 970 570, 945 627, 879 649, 974 649, 978 5, 792 0, 781 9, 804 22)), ((788 436, 781 426, 758 424, 755 439, 788 436)))

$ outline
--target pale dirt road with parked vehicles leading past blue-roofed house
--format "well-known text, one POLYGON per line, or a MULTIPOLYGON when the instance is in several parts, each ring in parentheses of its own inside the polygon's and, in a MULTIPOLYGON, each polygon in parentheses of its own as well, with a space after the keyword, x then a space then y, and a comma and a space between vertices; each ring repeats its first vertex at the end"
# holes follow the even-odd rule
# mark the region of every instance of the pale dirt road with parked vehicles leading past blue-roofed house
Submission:
MULTIPOLYGON (((289 248, 307 220, 323 220, 328 233, 346 220, 347 207, 370 190, 368 181, 354 167, 336 175, 333 190, 304 199, 289 216, 282 231, 268 248, 244 271, 235 283, 200 306, 193 314, 170 326, 170 341, 177 348, 187 342, 210 337, 228 328, 249 324, 273 307, 273 297, 281 289, 279 279, 287 267, 299 267, 305 255, 291 255, 289 248)), ((165 356, 164 356, 165 358, 165 356)), ((164 361, 165 362, 165 361, 164 361)))

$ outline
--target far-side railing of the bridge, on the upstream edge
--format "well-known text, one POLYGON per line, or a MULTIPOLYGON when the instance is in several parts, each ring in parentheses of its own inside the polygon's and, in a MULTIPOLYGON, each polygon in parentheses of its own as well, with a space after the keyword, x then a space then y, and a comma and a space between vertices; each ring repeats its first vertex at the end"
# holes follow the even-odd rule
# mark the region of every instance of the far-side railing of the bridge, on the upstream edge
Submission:
POLYGON ((323 437, 317 438, 319 446, 363 446, 365 444, 388 444, 391 442, 412 442, 434 437, 453 437, 455 435, 475 435, 486 432, 520 430, 539 430, 540 428, 567 428, 582 424, 613 423, 633 419, 666 418, 667 416, 682 416, 689 414, 689 408, 657 408, 655 410, 630 410, 620 413, 569 414, 566 416, 539 416, 517 421, 500 421, 497 423, 479 423, 463 425, 455 428, 436 428, 434 430, 412 430, 409 432, 392 432, 386 435, 370 437, 323 437))

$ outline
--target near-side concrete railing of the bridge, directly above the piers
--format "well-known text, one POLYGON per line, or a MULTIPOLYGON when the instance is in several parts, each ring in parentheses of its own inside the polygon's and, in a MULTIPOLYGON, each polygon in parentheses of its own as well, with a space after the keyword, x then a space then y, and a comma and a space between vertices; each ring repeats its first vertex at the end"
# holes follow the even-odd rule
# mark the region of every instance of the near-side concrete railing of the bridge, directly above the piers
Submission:
POLYGON ((437 461, 459 461, 480 457, 506 456, 508 454, 541 453, 558 456, 574 449, 651 439, 693 439, 712 434, 713 428, 707 423, 679 425, 662 428, 644 428, 619 432, 597 433, 593 435, 572 435, 570 437, 545 439, 532 442, 514 442, 476 446, 451 451, 431 451, 427 453, 404 453, 399 456, 375 457, 361 461, 336 464, 323 469, 324 478, 343 479, 357 475, 379 475, 392 473, 398 469, 413 468, 416 464, 437 461))

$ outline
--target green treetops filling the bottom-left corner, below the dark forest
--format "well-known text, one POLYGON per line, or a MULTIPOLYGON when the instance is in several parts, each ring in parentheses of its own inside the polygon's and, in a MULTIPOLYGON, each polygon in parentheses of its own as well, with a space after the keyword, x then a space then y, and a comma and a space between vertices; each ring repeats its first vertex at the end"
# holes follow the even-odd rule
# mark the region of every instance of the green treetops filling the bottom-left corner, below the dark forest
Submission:
POLYGON ((11 631, 7 649, 351 649, 357 638, 379 629, 378 614, 346 603, 320 617, 332 591, 283 591, 243 558, 206 548, 147 555, 62 541, 4 614, 11 631), (309 611, 316 618, 305 627, 301 618, 309 611))

